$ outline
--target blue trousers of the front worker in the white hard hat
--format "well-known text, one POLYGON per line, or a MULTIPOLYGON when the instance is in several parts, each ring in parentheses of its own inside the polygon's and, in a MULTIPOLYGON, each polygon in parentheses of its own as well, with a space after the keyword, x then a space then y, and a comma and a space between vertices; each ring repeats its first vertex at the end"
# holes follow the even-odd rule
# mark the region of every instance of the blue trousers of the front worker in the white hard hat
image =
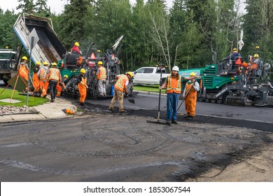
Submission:
POLYGON ((178 93, 167 93, 167 113, 166 120, 176 120, 177 105, 179 104, 178 93))

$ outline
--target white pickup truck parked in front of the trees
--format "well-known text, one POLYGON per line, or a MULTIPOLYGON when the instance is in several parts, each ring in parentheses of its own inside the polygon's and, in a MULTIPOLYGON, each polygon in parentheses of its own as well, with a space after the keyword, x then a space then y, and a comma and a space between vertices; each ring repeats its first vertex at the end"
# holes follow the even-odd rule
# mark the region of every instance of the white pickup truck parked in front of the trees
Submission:
MULTIPOLYGON (((134 84, 141 85, 159 85, 160 84, 160 67, 145 66, 134 71, 134 84)), ((162 68, 162 78, 165 80, 170 73, 162 68)))

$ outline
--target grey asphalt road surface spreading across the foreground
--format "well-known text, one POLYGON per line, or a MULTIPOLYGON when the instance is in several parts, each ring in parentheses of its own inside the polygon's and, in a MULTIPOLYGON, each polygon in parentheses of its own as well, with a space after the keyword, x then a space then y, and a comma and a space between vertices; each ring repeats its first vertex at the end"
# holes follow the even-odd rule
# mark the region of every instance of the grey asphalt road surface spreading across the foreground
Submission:
POLYGON ((0 181, 273 181, 272 123, 235 115, 147 123, 157 121, 158 99, 134 98, 139 104, 128 102, 124 115, 107 110, 110 99, 89 100, 83 116, 1 123, 0 181))

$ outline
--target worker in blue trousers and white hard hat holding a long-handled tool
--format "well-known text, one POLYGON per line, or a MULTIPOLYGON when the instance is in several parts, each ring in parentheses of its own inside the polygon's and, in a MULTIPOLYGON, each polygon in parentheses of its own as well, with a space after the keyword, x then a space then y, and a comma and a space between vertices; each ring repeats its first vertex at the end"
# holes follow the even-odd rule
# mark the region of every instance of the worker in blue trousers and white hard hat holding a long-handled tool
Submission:
MULTIPOLYGON (((196 76, 185 77, 186 80, 196 78, 196 76)), ((177 124, 177 105, 179 104, 179 94, 181 94, 182 76, 179 76, 179 67, 172 68, 171 76, 167 76, 165 83, 160 86, 160 89, 167 87, 167 112, 166 124, 177 124)))

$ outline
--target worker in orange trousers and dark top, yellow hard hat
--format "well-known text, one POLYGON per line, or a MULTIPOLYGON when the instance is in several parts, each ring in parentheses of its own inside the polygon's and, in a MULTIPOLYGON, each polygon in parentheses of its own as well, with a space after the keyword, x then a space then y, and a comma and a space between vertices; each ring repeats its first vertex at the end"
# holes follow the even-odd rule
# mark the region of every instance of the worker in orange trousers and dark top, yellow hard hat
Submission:
POLYGON ((76 78, 76 85, 78 85, 78 91, 80 92, 80 105, 82 106, 85 106, 85 98, 88 88, 85 73, 85 69, 80 69, 80 75, 78 75, 78 78, 76 78))

